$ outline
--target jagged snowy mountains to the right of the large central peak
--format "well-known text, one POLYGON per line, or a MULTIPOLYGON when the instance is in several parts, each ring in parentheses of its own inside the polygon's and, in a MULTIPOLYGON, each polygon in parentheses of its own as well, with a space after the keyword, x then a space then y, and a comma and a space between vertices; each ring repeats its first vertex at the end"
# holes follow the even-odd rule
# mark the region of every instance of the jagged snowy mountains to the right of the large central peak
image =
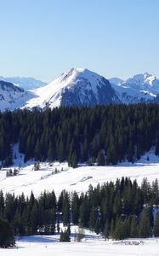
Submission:
POLYGON ((149 73, 137 74, 121 82, 120 79, 109 80, 122 103, 157 102, 159 79, 149 73))

